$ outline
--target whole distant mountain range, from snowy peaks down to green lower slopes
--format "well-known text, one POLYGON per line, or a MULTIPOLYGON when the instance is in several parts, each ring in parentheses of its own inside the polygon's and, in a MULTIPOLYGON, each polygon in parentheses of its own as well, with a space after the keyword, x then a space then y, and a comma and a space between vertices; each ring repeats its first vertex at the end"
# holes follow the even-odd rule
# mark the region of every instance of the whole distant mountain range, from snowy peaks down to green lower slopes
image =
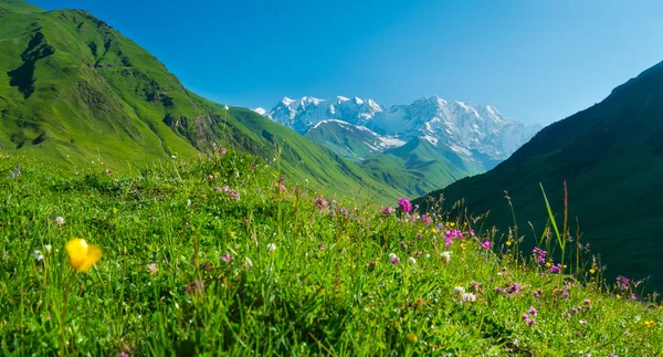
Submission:
POLYGON ((284 97, 271 111, 254 111, 412 196, 485 172, 540 129, 490 105, 436 96, 390 107, 358 97, 284 97))

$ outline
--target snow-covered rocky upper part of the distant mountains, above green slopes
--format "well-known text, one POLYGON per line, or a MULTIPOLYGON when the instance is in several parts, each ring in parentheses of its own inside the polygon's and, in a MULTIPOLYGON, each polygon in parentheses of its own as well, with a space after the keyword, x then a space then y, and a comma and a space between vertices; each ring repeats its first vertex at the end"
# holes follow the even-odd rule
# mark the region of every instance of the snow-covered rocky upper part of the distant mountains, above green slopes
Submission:
MULTIPOLYGON (((435 147, 453 150, 463 160, 482 161, 486 169, 506 159, 540 129, 539 125, 507 118, 490 105, 448 102, 436 96, 390 107, 358 97, 284 97, 263 115, 302 134, 322 122, 335 119, 372 130, 378 137, 387 136, 388 140, 397 139, 393 143, 422 138, 435 147)), ((318 135, 316 140, 320 139, 318 135)))

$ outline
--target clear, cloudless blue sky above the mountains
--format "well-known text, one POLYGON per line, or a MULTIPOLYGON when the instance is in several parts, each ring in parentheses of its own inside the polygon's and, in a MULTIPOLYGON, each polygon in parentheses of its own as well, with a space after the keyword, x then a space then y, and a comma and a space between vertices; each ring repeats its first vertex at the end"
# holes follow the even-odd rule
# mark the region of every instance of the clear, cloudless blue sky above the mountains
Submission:
POLYGON ((663 61, 659 0, 31 2, 85 9, 188 88, 248 107, 439 95, 548 124, 663 61))

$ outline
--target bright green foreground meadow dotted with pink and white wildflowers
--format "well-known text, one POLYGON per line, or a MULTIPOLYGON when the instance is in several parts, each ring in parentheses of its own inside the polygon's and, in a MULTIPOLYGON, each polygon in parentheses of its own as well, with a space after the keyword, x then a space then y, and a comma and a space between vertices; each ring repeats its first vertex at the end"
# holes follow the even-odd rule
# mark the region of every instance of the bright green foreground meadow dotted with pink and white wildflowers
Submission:
POLYGON ((663 350, 663 309, 633 282, 603 281, 590 255, 556 273, 461 206, 383 214, 283 181, 278 165, 228 150, 110 172, 3 155, 2 354, 663 350), (90 271, 74 252, 67 264, 75 238, 101 248, 90 271))

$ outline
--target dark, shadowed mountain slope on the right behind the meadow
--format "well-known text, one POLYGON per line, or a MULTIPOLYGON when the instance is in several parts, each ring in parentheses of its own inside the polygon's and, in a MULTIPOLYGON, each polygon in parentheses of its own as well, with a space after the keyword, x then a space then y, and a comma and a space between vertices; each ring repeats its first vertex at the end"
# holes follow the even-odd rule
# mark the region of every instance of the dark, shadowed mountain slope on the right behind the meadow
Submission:
POLYGON ((564 180, 569 217, 573 223, 578 217, 581 242, 601 254, 609 275, 651 274, 646 285, 663 290, 663 63, 546 127, 492 171, 430 197, 444 193, 448 203, 464 198, 474 212, 490 210, 492 222, 505 228, 513 224, 507 190, 520 232, 529 231, 530 221, 540 234, 546 210, 538 185, 561 222, 564 180))

